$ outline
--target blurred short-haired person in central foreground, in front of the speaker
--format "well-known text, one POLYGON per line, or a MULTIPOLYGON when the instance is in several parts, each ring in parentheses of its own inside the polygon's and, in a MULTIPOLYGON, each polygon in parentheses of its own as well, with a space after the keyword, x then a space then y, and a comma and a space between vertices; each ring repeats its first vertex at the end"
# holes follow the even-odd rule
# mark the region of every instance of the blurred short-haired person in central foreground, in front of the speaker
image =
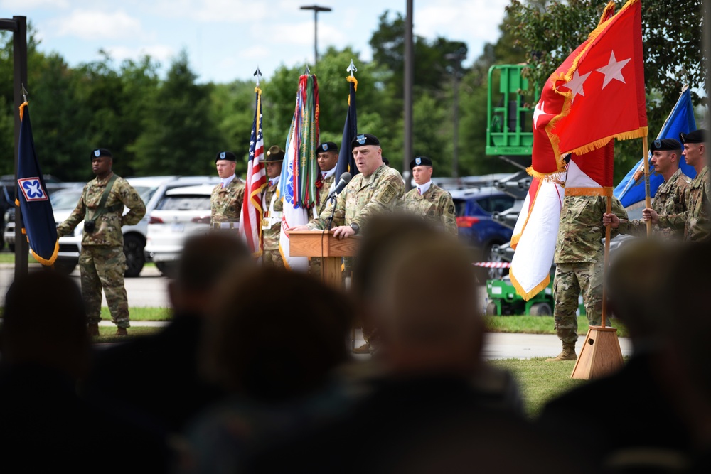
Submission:
POLYGON ((430 230, 382 243, 391 251, 360 301, 380 333, 380 375, 347 414, 274 443, 243 472, 576 472, 544 458, 531 426, 471 384, 483 321, 464 249, 430 230))

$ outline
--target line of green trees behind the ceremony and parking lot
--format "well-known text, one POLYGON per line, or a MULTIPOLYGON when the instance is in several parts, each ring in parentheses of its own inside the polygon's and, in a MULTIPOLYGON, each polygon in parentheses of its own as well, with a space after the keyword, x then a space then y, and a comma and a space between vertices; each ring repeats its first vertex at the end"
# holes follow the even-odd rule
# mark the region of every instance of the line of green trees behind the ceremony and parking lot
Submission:
MULTIPOLYGON (((651 58, 646 65, 650 134, 656 134, 671 109, 669 104, 678 97, 673 73, 680 65, 690 70, 692 80, 702 80, 696 72, 702 68, 698 54, 701 1, 680 1, 687 13, 673 18, 673 41, 665 40, 667 28, 653 25, 661 21, 665 2, 645 1, 644 41, 651 58), (673 48, 673 54, 663 54, 664 48, 673 48)), ((499 27, 501 37, 487 44, 466 68, 459 60, 447 59, 448 53, 460 57, 469 53, 465 43, 415 36, 413 152, 432 158, 436 176, 451 176, 452 172, 455 80, 459 80, 459 176, 516 171, 484 153, 488 68, 528 61, 535 66, 532 84, 550 75, 556 61, 565 58, 565 51, 572 51, 592 30, 589 26, 597 23, 604 7, 592 0, 570 0, 568 4, 569 8, 562 8, 555 1, 520 4, 513 0, 499 27), (557 36, 551 33, 559 30, 557 36)), ((215 154, 225 149, 246 158, 255 107, 254 82, 200 83, 184 51, 171 60, 164 77, 159 75, 159 63, 149 56, 117 63, 100 52, 98 60, 70 67, 58 53, 41 52, 36 31, 31 25, 28 30, 28 100, 44 173, 64 181, 85 181, 91 177, 90 151, 99 146, 112 150, 114 169, 122 176, 212 174, 215 154)), ((373 60, 362 60, 360 52, 351 48, 331 47, 321 54, 317 65, 309 65, 319 81, 321 141, 341 142, 348 98, 346 68, 353 59, 358 67, 358 130, 378 135, 384 156, 401 171, 404 33, 405 18, 385 11, 370 38, 373 60)), ((14 172, 16 113, 9 33, 2 33, 0 46, 0 174, 9 174, 14 172)), ((303 70, 304 65, 282 65, 272 77, 262 78, 266 146, 284 146, 303 70)), ((695 96, 696 102, 700 100, 695 96)), ((617 178, 636 163, 640 153, 619 147, 617 178)), ((239 163, 238 172, 245 169, 246 159, 239 163)))

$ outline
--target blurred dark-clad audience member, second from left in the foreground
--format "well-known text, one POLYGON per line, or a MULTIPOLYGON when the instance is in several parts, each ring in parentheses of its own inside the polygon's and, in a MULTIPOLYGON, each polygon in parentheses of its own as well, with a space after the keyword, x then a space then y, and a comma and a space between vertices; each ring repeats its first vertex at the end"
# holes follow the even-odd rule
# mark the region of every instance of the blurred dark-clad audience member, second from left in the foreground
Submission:
POLYGON ((180 431, 191 416, 222 397, 221 389, 198 375, 198 341, 223 273, 249 264, 250 252, 236 234, 188 239, 178 278, 169 284, 173 321, 159 333, 99 352, 87 396, 137 410, 168 432, 180 431))

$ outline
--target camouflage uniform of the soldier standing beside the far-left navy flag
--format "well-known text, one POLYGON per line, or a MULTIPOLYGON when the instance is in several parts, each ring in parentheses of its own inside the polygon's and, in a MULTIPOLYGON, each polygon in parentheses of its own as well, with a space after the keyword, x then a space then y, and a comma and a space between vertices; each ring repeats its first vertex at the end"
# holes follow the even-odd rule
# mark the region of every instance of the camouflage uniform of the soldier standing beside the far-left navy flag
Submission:
MULTIPOLYGON (((57 227, 59 237, 70 234, 85 215, 91 217, 99 205, 109 178, 92 179, 84 186, 77 207, 67 220, 57 227)), ((107 212, 96 220, 94 232, 84 232, 79 271, 82 278, 82 295, 87 308, 87 322, 101 321, 101 290, 104 289, 111 321, 119 328, 129 327, 129 303, 124 287, 124 236, 121 227, 136 225, 146 214, 146 205, 139 194, 123 178, 117 176, 105 203, 107 212), (129 208, 122 215, 124 206, 129 208), (115 208, 115 210, 114 210, 115 208)))

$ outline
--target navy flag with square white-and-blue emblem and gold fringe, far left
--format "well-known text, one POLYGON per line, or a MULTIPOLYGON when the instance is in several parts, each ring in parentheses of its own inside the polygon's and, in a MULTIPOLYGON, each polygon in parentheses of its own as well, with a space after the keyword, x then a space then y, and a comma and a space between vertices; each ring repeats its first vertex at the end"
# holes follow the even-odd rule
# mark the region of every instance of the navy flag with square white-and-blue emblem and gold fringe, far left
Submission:
POLYGON ((17 189, 15 204, 20 206, 22 232, 27 236, 32 256, 43 265, 53 265, 59 250, 57 225, 37 161, 27 102, 20 106, 17 189))

